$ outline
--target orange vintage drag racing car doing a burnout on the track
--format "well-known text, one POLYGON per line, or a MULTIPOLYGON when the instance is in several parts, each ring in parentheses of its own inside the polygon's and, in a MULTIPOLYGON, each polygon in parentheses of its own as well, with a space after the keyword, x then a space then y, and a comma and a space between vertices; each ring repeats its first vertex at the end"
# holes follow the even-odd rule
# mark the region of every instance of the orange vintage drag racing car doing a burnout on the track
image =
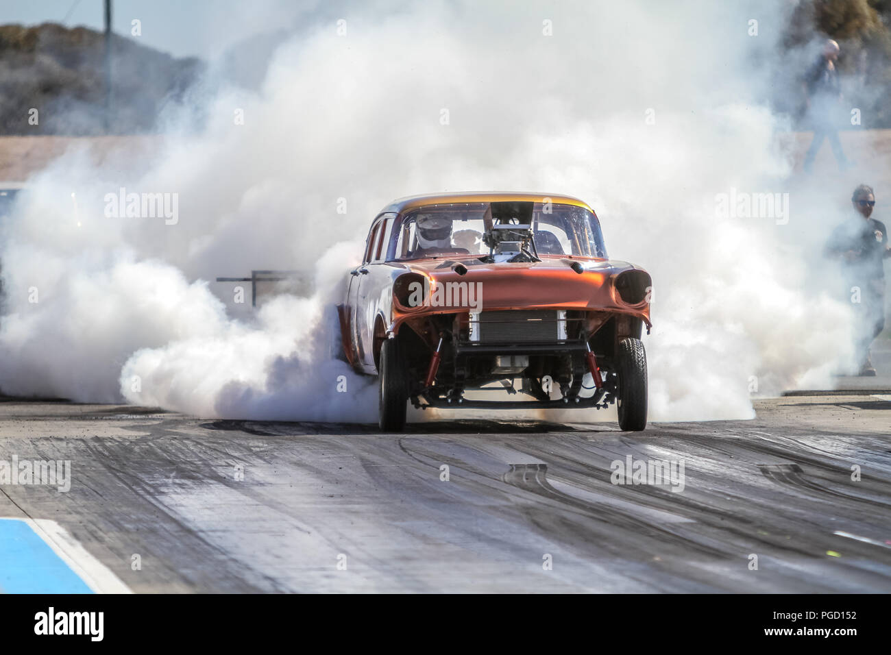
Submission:
POLYGON ((647 424, 650 274, 607 257, 583 201, 447 193, 372 222, 338 306, 343 355, 378 376, 380 429, 415 407, 617 405, 647 424), (493 399, 496 396, 496 399, 493 399))

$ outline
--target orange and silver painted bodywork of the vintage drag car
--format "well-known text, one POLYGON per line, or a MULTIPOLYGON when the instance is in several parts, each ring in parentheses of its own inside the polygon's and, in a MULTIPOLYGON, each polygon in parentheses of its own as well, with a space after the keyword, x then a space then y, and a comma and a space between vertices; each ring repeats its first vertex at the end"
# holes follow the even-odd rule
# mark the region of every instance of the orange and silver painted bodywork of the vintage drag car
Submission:
POLYGON ((399 334, 405 325, 430 348, 435 348, 439 335, 435 326, 430 325, 429 317, 456 315, 458 323, 462 323, 469 314, 466 303, 427 303, 414 307, 400 303, 393 289, 398 278, 405 274, 425 278, 431 293, 437 286, 481 283, 485 290, 481 305, 486 312, 567 310, 583 315, 584 331, 588 334, 598 332, 610 319, 615 319, 617 338, 639 334, 641 324, 649 332, 650 276, 642 268, 626 262, 571 254, 543 255, 541 261, 464 266, 466 272, 462 274, 450 264, 459 259, 454 256, 434 255, 409 261, 393 261, 387 257, 388 241, 395 239, 395 226, 413 210, 465 203, 542 201, 585 209, 596 220, 593 209, 583 201, 560 194, 443 193, 413 196, 389 204, 372 223, 363 265, 351 272, 346 302, 339 307, 347 361, 362 373, 376 374, 380 344, 399 334), (392 225, 386 225, 388 221, 392 225), (639 275, 637 293, 623 298, 616 282, 621 274, 630 271, 639 275))

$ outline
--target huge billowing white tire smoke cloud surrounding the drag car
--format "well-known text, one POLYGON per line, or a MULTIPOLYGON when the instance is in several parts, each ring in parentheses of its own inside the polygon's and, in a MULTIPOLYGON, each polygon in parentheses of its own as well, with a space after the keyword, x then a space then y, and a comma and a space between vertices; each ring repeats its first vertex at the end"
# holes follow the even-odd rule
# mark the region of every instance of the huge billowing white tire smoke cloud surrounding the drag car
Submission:
POLYGON ((829 383, 849 318, 813 281, 811 253, 837 217, 825 203, 806 216, 792 205, 788 225, 715 215, 715 194, 731 188, 810 191, 792 188, 777 147, 788 126, 759 103, 770 71, 753 61, 778 52, 775 4, 346 15, 345 36, 325 20, 283 45, 259 94, 203 101, 204 134, 171 129, 151 160, 96 167, 72 154, 31 181, 4 233, 4 391, 373 421, 373 381, 326 356, 323 307, 381 207, 459 189, 581 197, 610 255, 650 270, 651 419, 751 417, 752 376, 760 393, 829 383), (753 14, 762 37, 748 37, 753 14), (104 217, 102 196, 121 186, 178 193, 178 223, 104 217), (239 312, 231 286, 212 281, 256 268, 298 269, 314 291, 239 312))

